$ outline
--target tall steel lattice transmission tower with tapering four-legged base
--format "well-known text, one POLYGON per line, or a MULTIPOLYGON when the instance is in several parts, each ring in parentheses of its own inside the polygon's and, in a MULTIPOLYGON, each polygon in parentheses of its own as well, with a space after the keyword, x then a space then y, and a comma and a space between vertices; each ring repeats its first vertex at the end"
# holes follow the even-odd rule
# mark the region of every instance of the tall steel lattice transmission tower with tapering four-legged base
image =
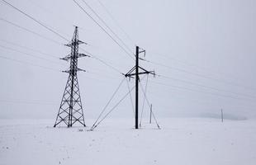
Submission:
POLYGON ((72 127, 75 123, 85 126, 77 72, 85 72, 85 70, 78 68, 78 58, 88 55, 78 53, 78 45, 80 44, 85 43, 78 40, 78 27, 75 26, 72 41, 66 45, 71 48, 71 54, 62 58, 63 60, 70 61, 69 70, 63 71, 64 73, 69 73, 69 78, 64 89, 64 95, 59 106, 54 127, 61 123, 64 123, 68 127, 72 127))

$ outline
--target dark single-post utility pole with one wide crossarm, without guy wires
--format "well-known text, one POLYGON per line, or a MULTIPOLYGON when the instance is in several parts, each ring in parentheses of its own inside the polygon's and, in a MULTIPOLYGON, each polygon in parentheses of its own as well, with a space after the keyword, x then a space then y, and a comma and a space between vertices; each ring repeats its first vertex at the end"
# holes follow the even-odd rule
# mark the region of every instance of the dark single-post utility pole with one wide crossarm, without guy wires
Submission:
POLYGON ((139 55, 144 54, 145 50, 142 50, 139 46, 136 46, 136 54, 135 54, 135 67, 131 68, 128 73, 125 74, 127 78, 135 77, 135 129, 139 129, 139 82, 140 82, 140 74, 153 74, 155 76, 154 71, 147 71, 145 68, 140 67, 139 55), (140 71, 141 70, 141 71, 140 71), (135 71, 135 73, 133 73, 135 71))

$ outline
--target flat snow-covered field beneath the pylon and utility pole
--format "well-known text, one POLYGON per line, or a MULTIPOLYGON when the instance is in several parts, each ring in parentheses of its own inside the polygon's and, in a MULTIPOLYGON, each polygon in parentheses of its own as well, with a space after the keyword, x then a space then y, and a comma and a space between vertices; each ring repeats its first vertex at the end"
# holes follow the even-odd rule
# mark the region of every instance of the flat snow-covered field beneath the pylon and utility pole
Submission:
POLYGON ((256 120, 169 118, 134 130, 132 119, 112 119, 94 131, 53 122, 0 120, 0 164, 256 164, 256 120))

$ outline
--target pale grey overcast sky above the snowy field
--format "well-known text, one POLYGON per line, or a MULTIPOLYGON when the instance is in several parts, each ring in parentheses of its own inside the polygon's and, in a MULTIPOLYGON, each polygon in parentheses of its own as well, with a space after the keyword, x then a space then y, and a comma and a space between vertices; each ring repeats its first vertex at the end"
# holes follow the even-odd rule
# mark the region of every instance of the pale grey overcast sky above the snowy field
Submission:
MULTIPOLYGON (((221 108, 228 115, 256 116, 256 1, 100 0, 115 21, 99 1, 85 1, 130 50, 139 45, 146 50, 145 59, 154 62, 141 62, 141 66, 162 76, 149 76, 147 93, 156 116, 219 115, 221 108)), ((81 47, 121 73, 134 66, 134 61, 72 0, 7 2, 69 40, 78 26, 79 39, 88 43, 81 47)), ((78 3, 104 26, 83 1, 78 3)), ((0 117, 50 118, 54 122, 68 78, 59 71, 69 64, 58 59, 69 54, 63 45, 66 40, 2 0, 0 17, 0 117)), ((78 63, 88 71, 78 73, 85 119, 95 118, 122 75, 92 58, 79 59, 78 63)), ((132 87, 133 80, 129 84, 132 87)), ((127 90, 125 82, 111 106, 127 90)), ((140 98, 141 107, 143 96, 140 98)), ((145 111, 149 111, 148 106, 145 111)), ((111 116, 132 117, 130 98, 111 116)))

